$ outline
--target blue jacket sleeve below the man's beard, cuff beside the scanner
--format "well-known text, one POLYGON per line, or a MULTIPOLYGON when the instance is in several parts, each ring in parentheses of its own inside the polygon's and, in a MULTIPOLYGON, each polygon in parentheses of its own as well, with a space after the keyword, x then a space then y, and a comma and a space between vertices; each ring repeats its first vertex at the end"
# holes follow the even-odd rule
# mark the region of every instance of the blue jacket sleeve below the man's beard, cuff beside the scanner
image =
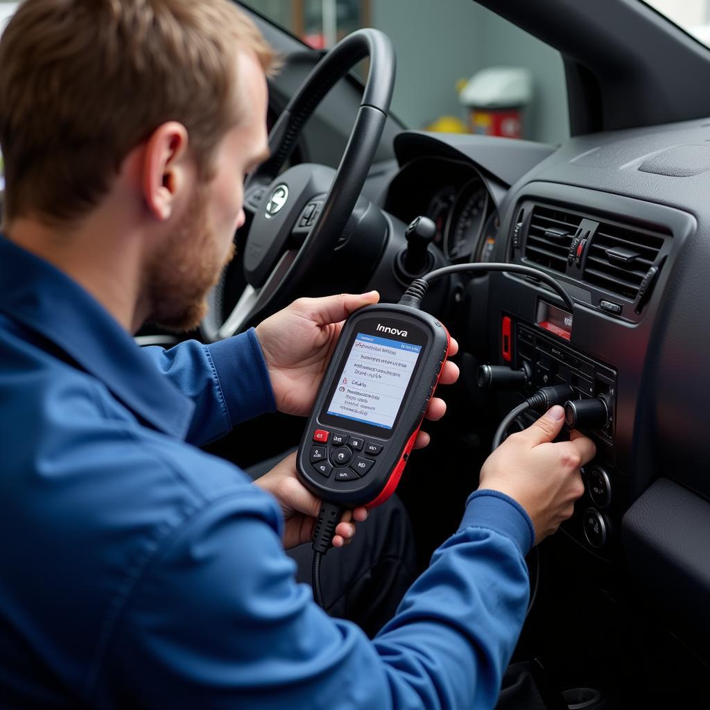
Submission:
POLYGON ((276 408, 271 379, 253 328, 212 345, 196 340, 143 352, 195 403, 187 441, 203 446, 239 422, 276 408))

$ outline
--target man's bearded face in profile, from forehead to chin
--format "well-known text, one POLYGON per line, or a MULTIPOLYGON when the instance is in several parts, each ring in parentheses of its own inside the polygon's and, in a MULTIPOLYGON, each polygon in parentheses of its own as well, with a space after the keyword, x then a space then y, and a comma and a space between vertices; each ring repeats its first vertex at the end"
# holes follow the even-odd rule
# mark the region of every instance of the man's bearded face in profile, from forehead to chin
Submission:
POLYGON ((198 180, 178 226, 148 268, 149 320, 187 330, 207 312, 206 296, 234 256, 234 232, 244 224, 244 178, 268 155, 266 77, 256 57, 239 53, 239 125, 226 133, 214 171, 198 180))

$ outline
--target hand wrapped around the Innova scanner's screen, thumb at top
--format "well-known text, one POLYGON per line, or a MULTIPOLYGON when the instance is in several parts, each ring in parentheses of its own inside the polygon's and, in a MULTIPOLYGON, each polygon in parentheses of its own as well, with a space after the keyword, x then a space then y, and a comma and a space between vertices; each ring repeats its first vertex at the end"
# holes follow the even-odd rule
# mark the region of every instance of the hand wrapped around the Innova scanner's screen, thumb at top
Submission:
MULTIPOLYGON (((377 291, 300 298, 256 327, 280 412, 300 416, 310 413, 343 321, 359 308, 378 302, 379 298, 377 291)), ((449 356, 455 355, 458 349, 452 339, 449 356)), ((449 385, 458 378, 459 368, 447 362, 439 383, 449 385)), ((427 419, 439 420, 445 412, 444 400, 434 397, 427 409, 427 419)), ((425 447, 428 443, 429 435, 420 432, 415 447, 425 447)))

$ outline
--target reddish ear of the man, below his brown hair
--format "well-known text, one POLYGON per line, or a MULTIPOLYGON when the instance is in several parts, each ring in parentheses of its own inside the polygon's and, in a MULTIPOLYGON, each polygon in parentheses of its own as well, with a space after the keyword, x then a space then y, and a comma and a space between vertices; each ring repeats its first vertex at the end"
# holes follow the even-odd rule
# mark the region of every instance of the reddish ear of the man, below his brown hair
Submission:
POLYGON ((143 197, 155 219, 170 219, 190 177, 187 129, 177 121, 158 126, 143 153, 143 197))

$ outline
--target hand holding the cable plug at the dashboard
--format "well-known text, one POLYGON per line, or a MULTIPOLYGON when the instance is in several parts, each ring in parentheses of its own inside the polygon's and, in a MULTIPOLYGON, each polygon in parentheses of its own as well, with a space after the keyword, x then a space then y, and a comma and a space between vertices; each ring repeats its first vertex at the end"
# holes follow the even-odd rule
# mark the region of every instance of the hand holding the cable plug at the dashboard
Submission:
POLYGON ((594 442, 577 431, 569 432, 568 442, 552 444, 563 423, 562 407, 552 407, 528 429, 510 435, 481 469, 479 488, 518 501, 530 515, 536 544, 572 516, 574 501, 584 493, 579 466, 596 454, 594 442))

